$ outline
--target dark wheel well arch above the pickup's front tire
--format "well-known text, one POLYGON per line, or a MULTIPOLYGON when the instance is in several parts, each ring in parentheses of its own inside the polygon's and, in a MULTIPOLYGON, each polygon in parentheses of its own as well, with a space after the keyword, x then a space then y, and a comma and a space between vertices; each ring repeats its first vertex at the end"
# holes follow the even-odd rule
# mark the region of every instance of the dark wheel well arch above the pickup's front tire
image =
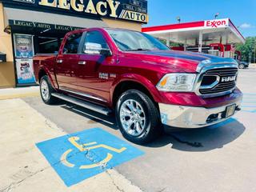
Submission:
MULTIPOLYGON (((118 86, 115 87, 114 89, 114 94, 113 94, 113 107, 115 107, 116 103, 118 102, 118 98, 120 95, 126 90, 140 90, 142 93, 146 94, 152 102, 154 102, 153 96, 150 94, 150 91, 146 89, 145 86, 142 86, 142 84, 138 82, 133 82, 133 81, 126 81, 126 82, 121 82, 118 84, 118 86)), ((158 103, 154 102, 154 104, 158 107, 158 103)))

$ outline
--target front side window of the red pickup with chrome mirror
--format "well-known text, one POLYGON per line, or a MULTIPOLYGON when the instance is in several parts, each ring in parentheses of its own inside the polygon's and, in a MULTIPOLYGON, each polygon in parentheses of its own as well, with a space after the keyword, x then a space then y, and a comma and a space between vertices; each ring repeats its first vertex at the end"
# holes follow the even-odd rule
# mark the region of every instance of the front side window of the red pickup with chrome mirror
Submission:
POLYGON ((100 54, 102 49, 109 49, 109 46, 102 34, 98 31, 90 31, 86 33, 83 52, 86 54, 100 54))

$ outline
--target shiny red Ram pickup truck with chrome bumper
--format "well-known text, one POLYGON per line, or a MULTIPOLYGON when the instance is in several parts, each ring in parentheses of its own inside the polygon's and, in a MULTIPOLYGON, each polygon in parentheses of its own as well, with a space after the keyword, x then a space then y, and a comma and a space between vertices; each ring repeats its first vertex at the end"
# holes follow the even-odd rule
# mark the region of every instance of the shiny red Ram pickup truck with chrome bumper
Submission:
POLYGON ((115 113, 122 135, 150 142, 162 125, 198 128, 223 122, 240 110, 238 63, 170 50, 132 30, 75 30, 58 54, 37 54, 35 76, 43 102, 56 98, 101 114, 115 113))

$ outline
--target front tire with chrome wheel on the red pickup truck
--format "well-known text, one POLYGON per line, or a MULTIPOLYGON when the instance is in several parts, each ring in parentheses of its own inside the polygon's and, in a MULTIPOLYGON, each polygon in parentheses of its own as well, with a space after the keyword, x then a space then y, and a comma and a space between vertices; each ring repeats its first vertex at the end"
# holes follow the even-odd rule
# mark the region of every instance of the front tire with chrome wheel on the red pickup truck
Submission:
POLYGON ((152 142, 162 134, 157 106, 139 90, 127 90, 118 99, 116 118, 124 138, 137 144, 152 142))

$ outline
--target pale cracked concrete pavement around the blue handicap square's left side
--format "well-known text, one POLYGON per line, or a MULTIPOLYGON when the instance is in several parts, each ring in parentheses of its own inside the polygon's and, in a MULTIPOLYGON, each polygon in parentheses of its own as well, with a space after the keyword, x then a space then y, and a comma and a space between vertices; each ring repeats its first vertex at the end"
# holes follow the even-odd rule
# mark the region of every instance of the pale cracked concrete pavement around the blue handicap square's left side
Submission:
MULTIPOLYGON (((19 94, 12 91, 14 95, 19 94)), ((35 146, 37 142, 65 135, 66 132, 22 99, 0 101, 0 122, 1 192, 141 191, 116 170, 107 170, 67 187, 35 146)))

